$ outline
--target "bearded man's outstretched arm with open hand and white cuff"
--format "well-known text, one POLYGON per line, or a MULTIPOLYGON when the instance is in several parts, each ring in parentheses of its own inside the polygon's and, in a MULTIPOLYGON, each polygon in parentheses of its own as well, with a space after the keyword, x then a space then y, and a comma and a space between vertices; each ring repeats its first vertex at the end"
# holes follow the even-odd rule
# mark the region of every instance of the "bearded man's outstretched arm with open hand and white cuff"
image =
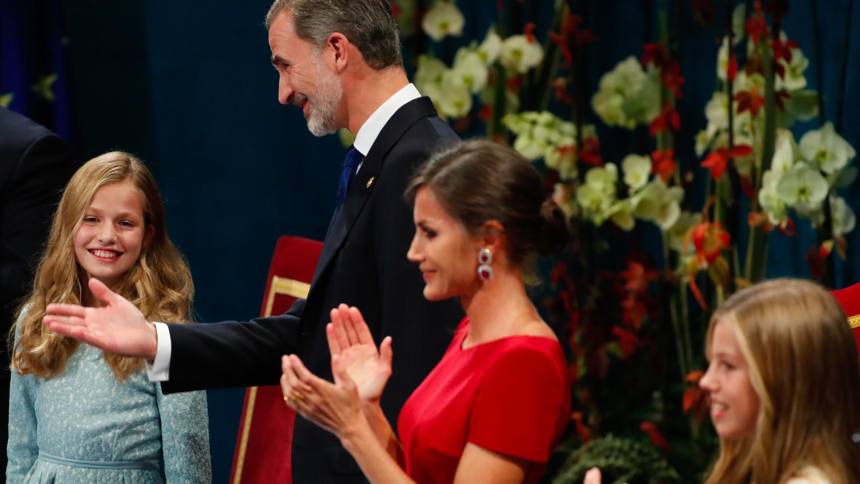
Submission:
MULTIPOLYGON (((98 280, 90 279, 89 288, 105 306, 49 304, 43 319, 48 328, 107 352, 154 360, 155 325, 98 280)), ((169 380, 162 383, 163 391, 277 384, 280 357, 298 352, 302 309, 304 299, 299 299, 284 315, 250 322, 169 324, 169 380)))

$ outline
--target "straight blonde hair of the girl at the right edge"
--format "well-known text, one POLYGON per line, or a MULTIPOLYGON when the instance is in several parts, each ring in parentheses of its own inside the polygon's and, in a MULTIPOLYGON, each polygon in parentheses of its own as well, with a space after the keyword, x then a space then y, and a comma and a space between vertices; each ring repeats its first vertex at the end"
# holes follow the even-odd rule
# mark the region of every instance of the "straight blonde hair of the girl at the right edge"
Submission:
POLYGON ((820 285, 774 279, 740 291, 710 319, 728 324, 759 395, 752 438, 720 439, 706 484, 783 484, 808 466, 832 484, 860 482, 860 367, 845 313, 820 285))

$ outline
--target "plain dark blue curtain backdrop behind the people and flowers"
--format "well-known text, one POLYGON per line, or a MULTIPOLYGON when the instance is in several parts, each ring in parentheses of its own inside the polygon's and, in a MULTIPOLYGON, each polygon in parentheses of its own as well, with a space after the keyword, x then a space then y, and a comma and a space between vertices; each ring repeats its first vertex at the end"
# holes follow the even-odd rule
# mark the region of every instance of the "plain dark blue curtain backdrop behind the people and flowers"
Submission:
MULTIPOLYGON (((697 164, 693 137, 705 125, 703 107, 714 89, 717 34, 694 27, 690 2, 677 1, 683 3, 687 19, 680 32, 679 61, 686 83, 679 102, 679 156, 692 165, 697 164)), ((257 315, 278 236, 322 239, 335 205, 345 150, 335 137, 313 137, 298 109, 278 104, 277 75, 268 63, 262 26, 269 3, 0 0, 0 95, 14 91, 10 107, 15 110, 34 115, 33 109, 41 109, 43 118, 37 119, 52 123, 48 126, 64 137, 75 137, 81 160, 121 149, 148 162, 167 201, 170 236, 187 255, 194 273, 200 321, 257 315), (49 52, 47 58, 58 62, 58 67, 36 64, 28 50, 37 47, 49 52), (60 62, 64 53, 66 67, 60 62), (47 105, 32 90, 37 81, 15 75, 32 72, 38 78, 63 71, 66 76, 53 84, 56 99, 47 105)), ((514 18, 535 21, 536 32, 545 32, 551 2, 504 3, 515 9, 514 18)), ((642 44, 655 40, 656 3, 588 0, 574 4, 587 12, 587 27, 598 37, 588 51, 586 83, 593 93, 603 73, 629 55, 641 55, 642 44)), ((676 3, 671 5, 674 8, 676 3)), ((809 88, 823 87, 824 114, 832 121, 840 101, 845 5, 845 0, 819 2, 820 59, 814 55, 809 3, 792 2, 784 22, 784 30, 811 59, 809 88), (824 73, 822 86, 814 77, 818 62, 824 73)), ((410 74, 416 50, 432 49, 450 61, 459 45, 482 39, 497 21, 495 2, 458 0, 458 6, 466 16, 462 39, 438 45, 426 40, 406 42, 410 74)), ((852 16, 852 25, 860 25, 860 9, 854 9, 852 16)), ((847 48, 860 52, 858 46, 860 34, 854 34, 847 48)), ((851 63, 842 135, 860 148, 860 99, 857 90, 851 89, 857 77, 857 64, 851 63)), ((601 125, 590 109, 589 116, 598 126, 606 161, 618 162, 625 154, 641 150, 636 134, 601 125)), ((815 119, 799 124, 796 135, 814 127, 815 119)), ((651 149, 647 145, 646 151, 651 149)), ((845 193, 855 211, 860 211, 858 191, 856 183, 845 193)), ((798 229, 797 237, 771 236, 770 277, 808 277, 803 255, 814 242, 814 231, 802 220, 798 229)), ((839 286, 860 280, 856 233, 848 236, 848 261, 837 263, 839 286)), ((243 389, 209 392, 216 482, 227 481, 230 473, 242 398, 243 389)))

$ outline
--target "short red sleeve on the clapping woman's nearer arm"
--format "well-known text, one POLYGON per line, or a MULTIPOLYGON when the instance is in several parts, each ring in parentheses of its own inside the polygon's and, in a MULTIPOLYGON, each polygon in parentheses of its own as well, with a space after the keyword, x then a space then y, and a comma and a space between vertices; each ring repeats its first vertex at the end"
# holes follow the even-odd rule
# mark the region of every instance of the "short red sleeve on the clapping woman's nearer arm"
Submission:
POLYGON ((568 419, 567 370, 555 341, 528 340, 533 344, 506 348, 488 362, 491 367, 470 412, 467 440, 501 454, 544 463, 568 419))

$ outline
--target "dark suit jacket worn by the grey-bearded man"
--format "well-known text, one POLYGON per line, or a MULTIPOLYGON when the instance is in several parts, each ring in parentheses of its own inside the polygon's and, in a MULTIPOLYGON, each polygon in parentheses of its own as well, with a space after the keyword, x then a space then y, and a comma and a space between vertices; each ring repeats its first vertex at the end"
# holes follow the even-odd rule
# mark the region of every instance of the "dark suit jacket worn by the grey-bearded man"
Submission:
MULTIPOLYGON (((406 259, 415 226, 403 200, 413 169, 444 140, 458 139, 422 97, 401 107, 379 133, 329 227, 306 300, 282 316, 251 322, 170 325, 165 392, 272 385, 280 357, 298 354, 331 380, 325 325, 339 303, 361 309, 377 342, 393 338, 393 374, 382 407, 396 429, 408 395, 439 362, 463 317, 458 301, 424 299, 418 267, 406 259)), ((293 481, 363 482, 352 457, 329 432, 298 418, 292 438, 293 481)))

